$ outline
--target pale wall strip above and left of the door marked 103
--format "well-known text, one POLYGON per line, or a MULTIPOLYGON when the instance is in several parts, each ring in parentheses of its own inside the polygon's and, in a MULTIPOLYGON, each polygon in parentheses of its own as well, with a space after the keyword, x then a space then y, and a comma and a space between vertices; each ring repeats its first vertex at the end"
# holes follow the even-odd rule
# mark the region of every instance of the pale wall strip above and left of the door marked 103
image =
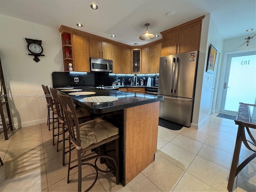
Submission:
POLYGON ((218 90, 217 90, 217 97, 216 97, 216 112, 220 111, 222 88, 224 84, 224 74, 226 71, 226 54, 233 53, 233 52, 244 52, 249 50, 255 50, 256 36, 250 40, 248 46, 246 46, 246 44, 242 45, 244 42, 246 42, 245 38, 248 38, 248 36, 253 36, 253 34, 252 35, 248 34, 246 36, 224 40, 223 54, 221 57, 221 65, 219 68, 220 72, 219 72, 218 90))

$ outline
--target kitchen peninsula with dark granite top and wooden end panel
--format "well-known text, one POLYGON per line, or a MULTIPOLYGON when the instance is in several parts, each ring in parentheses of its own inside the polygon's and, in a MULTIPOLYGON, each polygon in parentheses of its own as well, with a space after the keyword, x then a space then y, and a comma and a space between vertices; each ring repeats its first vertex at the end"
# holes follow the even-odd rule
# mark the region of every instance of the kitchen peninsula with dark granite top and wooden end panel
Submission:
MULTIPOLYGON (((163 98, 93 87, 76 87, 76 89, 93 94, 79 95, 79 92, 76 92, 71 95, 74 103, 119 128, 120 182, 125 186, 154 161, 154 154, 157 150, 159 102, 163 98), (89 97, 106 98, 106 96, 114 100, 110 102, 84 101, 89 97)), ((70 89, 61 92, 69 94, 74 91, 70 89)))

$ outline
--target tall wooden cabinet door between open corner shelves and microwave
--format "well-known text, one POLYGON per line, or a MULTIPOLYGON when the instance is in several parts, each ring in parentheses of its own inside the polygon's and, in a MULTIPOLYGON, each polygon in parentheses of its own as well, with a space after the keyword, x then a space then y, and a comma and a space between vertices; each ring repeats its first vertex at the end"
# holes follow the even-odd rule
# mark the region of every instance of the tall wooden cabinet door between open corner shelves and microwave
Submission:
POLYGON ((80 34, 72 34, 73 70, 90 72, 89 38, 80 34))

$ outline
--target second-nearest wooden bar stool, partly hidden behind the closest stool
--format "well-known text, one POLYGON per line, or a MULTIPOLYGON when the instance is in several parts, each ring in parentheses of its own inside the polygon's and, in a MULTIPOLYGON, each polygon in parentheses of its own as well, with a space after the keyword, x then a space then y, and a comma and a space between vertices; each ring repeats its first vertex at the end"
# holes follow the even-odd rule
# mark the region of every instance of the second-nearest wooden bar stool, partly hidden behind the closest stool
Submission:
MULTIPOLYGON (((65 136, 65 132, 68 131, 67 128, 65 128, 65 118, 64 118, 64 113, 62 110, 62 106, 60 104, 60 99, 57 94, 57 90, 54 88, 50 88, 52 100, 54 101, 54 105, 57 111, 57 116, 58 116, 58 122, 62 126, 62 132, 60 133, 60 130, 58 129, 58 139, 57 139, 57 152, 58 152, 58 146, 59 142, 62 143, 62 165, 65 166, 65 154, 68 153, 69 151, 65 151, 65 140, 68 140, 65 136), (62 140, 59 140, 59 136, 62 134, 62 140)), ((76 108, 76 114, 78 115, 78 121, 79 122, 86 122, 88 120, 91 120, 90 112, 83 108, 76 108)))

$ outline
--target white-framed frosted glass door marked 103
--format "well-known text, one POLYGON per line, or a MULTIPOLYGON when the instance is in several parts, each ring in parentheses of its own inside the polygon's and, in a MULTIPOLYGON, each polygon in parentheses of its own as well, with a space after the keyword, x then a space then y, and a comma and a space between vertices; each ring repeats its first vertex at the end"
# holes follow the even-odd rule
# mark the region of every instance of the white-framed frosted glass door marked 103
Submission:
POLYGON ((236 114, 239 103, 256 102, 256 51, 227 56, 220 112, 236 114))

